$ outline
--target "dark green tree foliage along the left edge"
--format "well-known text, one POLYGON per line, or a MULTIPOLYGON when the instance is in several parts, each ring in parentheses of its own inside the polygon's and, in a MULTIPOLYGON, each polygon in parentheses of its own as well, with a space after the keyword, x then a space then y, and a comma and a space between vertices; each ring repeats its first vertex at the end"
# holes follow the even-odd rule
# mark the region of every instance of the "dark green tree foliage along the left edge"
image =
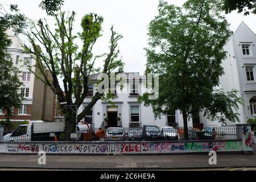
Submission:
POLYGON ((0 4, 0 109, 6 111, 6 121, 3 125, 11 127, 10 117, 13 115, 12 108, 19 107, 23 100, 20 94, 19 69, 14 67, 13 60, 7 47, 11 45, 6 31, 13 28, 19 34, 26 27, 26 17, 19 13, 17 5, 10 5, 10 13, 0 4))

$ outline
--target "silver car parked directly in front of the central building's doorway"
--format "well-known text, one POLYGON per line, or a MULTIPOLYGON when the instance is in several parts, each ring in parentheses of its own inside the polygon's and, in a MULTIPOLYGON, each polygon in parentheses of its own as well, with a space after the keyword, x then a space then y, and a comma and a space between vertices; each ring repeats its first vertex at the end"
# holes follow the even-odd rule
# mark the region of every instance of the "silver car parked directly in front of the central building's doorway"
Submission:
POLYGON ((126 134, 122 127, 109 127, 106 131, 105 140, 108 141, 125 141, 126 134))

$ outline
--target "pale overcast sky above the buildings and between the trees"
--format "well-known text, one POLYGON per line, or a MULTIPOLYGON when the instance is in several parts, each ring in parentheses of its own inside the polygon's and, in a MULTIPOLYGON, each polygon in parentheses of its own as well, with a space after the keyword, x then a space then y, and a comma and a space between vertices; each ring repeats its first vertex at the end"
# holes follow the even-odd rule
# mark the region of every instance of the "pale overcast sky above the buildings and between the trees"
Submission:
MULTIPOLYGON (((44 10, 39 8, 42 0, 0 0, 1 4, 18 4, 19 9, 28 18, 38 20, 46 17, 44 10)), ((185 0, 167 0, 181 6, 185 0)), ((76 24, 75 32, 79 32, 82 16, 88 13, 97 13, 104 17, 103 36, 98 40, 94 53, 101 54, 108 50, 110 31, 114 30, 123 35, 119 42, 122 59, 125 62, 125 72, 140 72, 143 74, 146 64, 146 57, 143 48, 147 47, 147 26, 148 23, 158 14, 158 0, 65 0, 63 10, 75 11, 76 24)), ((48 23, 53 23, 47 18, 48 23)), ((243 16, 236 12, 226 15, 231 23, 231 30, 236 30, 239 24, 245 22, 251 30, 256 32, 256 16, 243 16)), ((23 36, 20 36, 23 40, 23 36)))

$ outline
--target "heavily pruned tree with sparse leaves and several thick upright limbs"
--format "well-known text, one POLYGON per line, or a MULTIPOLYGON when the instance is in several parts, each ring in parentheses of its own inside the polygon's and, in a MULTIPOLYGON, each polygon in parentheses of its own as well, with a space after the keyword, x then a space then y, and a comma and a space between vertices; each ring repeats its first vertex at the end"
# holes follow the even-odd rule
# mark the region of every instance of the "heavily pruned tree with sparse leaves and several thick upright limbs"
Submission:
MULTIPOLYGON (((25 51, 29 53, 37 64, 34 65, 40 70, 41 75, 32 71, 40 80, 47 84, 57 95, 59 103, 67 102, 67 105, 81 106, 88 93, 89 75, 95 72, 102 72, 110 75, 110 72, 123 71, 123 62, 119 59, 118 40, 122 38, 117 32, 112 32, 110 38, 109 52, 100 56, 93 55, 93 46, 101 36, 102 16, 97 14, 86 14, 81 20, 82 32, 73 34, 73 23, 75 13, 72 12, 67 18, 65 13, 55 15, 55 31, 51 31, 46 20, 40 19, 31 24, 31 31, 27 33, 31 45, 26 45, 25 51), (75 44, 77 39, 82 42, 82 47, 75 44), (38 46, 42 47, 42 49, 38 46), (97 68, 95 63, 97 59, 103 59, 102 68, 97 68), (48 69, 52 80, 47 77, 44 70, 48 69), (43 76, 43 79, 42 79, 43 76), (63 80, 65 94, 61 89, 60 80, 63 80)), ((106 89, 106 88, 105 88, 106 89)), ((110 94, 96 92, 90 103, 78 115, 78 121, 81 121, 90 108, 98 100, 110 100, 110 94)), ((76 128, 76 114, 73 108, 60 106, 65 113, 65 140, 69 139, 68 133, 73 133, 76 128)))

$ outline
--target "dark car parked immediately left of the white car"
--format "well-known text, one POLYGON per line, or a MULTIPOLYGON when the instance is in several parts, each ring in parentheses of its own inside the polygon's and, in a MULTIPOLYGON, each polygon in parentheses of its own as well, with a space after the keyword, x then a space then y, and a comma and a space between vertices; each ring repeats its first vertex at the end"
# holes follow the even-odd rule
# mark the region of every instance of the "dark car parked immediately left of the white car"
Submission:
POLYGON ((155 125, 143 125, 142 127, 142 138, 144 140, 162 140, 163 136, 155 125))

